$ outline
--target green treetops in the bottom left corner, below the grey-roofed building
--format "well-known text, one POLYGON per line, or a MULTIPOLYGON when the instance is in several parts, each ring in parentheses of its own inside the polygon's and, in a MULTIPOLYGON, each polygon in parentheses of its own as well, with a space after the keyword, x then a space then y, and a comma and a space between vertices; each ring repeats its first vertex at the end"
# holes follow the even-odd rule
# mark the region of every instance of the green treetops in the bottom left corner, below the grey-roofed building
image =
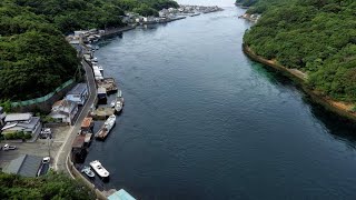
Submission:
POLYGON ((96 199, 81 182, 52 172, 38 178, 0 172, 0 199, 96 199))

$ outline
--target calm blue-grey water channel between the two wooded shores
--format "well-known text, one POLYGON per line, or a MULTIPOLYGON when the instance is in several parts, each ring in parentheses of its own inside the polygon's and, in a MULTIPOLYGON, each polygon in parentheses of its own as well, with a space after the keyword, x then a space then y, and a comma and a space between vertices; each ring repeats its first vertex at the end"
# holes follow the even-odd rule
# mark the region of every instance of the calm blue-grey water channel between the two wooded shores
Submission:
POLYGON ((87 158, 110 171, 106 188, 144 200, 356 198, 355 129, 243 53, 241 13, 231 4, 100 43, 126 100, 87 158))

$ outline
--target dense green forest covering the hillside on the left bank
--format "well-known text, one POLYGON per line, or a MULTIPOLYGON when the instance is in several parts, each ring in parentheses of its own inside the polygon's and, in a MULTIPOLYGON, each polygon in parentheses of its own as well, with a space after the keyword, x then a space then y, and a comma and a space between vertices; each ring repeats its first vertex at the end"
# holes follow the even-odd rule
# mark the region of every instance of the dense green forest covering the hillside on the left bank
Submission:
POLYGON ((62 34, 125 26, 125 11, 157 16, 171 0, 1 0, 0 102, 46 96, 80 77, 62 34))

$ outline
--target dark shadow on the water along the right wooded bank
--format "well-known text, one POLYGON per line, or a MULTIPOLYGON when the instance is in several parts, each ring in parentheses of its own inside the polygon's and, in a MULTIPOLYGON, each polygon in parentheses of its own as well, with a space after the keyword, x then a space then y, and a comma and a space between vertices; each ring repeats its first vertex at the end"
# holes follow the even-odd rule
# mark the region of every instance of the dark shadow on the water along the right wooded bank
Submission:
POLYGON ((313 101, 313 99, 303 91, 300 86, 287 78, 283 72, 253 61, 251 69, 256 73, 258 73, 258 76, 267 79, 275 86, 284 88, 296 88, 300 92, 300 94, 303 94, 303 101, 309 104, 313 116, 323 123, 323 126, 328 130, 328 133, 334 139, 344 141, 348 147, 356 149, 355 121, 345 119, 313 101))

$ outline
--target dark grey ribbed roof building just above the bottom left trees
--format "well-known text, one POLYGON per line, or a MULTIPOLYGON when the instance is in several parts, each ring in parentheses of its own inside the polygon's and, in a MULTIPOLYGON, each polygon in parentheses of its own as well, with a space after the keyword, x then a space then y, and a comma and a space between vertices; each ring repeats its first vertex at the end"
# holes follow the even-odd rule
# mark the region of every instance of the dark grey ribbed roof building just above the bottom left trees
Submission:
POLYGON ((22 154, 19 158, 12 160, 2 172, 14 173, 23 177, 37 177, 38 171, 42 164, 42 158, 22 154))

